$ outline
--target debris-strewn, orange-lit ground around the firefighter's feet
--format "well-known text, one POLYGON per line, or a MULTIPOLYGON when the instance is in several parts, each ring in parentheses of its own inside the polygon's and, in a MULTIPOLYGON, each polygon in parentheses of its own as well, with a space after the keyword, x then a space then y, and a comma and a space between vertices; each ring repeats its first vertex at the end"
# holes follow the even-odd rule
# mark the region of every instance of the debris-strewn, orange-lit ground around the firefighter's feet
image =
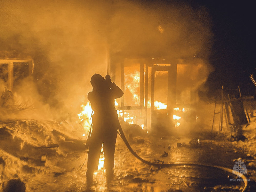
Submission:
MULTIPOLYGON (((175 134, 163 136, 147 133, 139 126, 122 123, 134 151, 143 159, 154 163, 184 163, 184 165, 157 168, 136 159, 118 136, 115 153, 115 177, 109 186, 105 171, 100 166, 94 174, 91 191, 242 191, 243 181, 235 174, 214 167, 194 164, 218 165, 233 169, 242 158, 247 173, 247 191, 255 191, 256 179, 256 117, 248 99, 251 122, 243 126, 244 141, 230 140, 230 130, 223 125, 218 132, 212 119, 214 103, 204 103, 204 110, 193 129, 178 127, 175 134), (199 141, 199 142, 198 142, 199 141)), ((219 107, 219 106, 217 106, 219 107)), ((200 114, 200 113, 199 113, 200 114)), ((218 124, 218 122, 216 123, 218 124)), ((83 128, 68 121, 5 119, 0 127, 0 179, 1 191, 10 180, 20 180, 26 191, 86 191, 86 156, 83 128), (85 163, 84 163, 85 162, 85 163)), ((88 190, 87 190, 88 191, 88 190)))

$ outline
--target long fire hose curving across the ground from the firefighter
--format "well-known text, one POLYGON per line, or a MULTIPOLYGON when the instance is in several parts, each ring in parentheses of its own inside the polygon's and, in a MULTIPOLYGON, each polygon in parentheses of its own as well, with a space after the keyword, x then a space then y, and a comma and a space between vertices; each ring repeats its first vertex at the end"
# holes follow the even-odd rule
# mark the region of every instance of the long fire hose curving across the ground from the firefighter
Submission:
POLYGON ((222 166, 217 166, 217 165, 208 165, 208 164, 194 164, 194 163, 170 163, 170 164, 157 164, 157 163, 152 163, 152 162, 149 162, 149 161, 146 161, 145 159, 142 159, 140 156, 138 156, 132 149, 132 147, 130 146, 130 144, 128 143, 125 135, 124 135, 124 132, 122 130, 122 127, 119 123, 119 126, 118 126, 118 134, 120 135, 120 137, 122 138, 122 140, 124 141, 126 147, 129 149, 129 151, 132 153, 133 156, 135 156, 137 159, 139 159, 142 163, 145 163, 147 165, 152 165, 152 166, 156 166, 156 167, 159 167, 159 168, 163 168, 163 167, 173 167, 173 166, 184 166, 184 165, 187 165, 187 166, 203 166, 203 167, 210 167, 210 168, 217 168, 217 169, 220 169, 222 171, 226 171, 226 172, 230 172, 232 174, 236 174, 236 175, 239 175, 239 177, 241 177, 244 181, 244 188, 242 190, 242 192, 245 192, 247 190, 247 185, 248 185, 248 181, 246 179, 246 177, 241 174, 240 172, 236 172, 232 169, 229 169, 229 168, 226 168, 226 167, 222 167, 222 166))

